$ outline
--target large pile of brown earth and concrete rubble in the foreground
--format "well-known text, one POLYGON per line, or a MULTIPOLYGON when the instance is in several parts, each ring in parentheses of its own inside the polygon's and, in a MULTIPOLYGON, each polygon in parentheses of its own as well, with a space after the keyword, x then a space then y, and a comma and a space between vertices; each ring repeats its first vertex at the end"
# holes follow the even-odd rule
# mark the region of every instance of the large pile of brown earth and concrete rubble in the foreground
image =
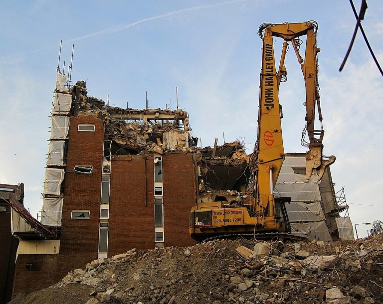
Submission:
POLYGON ((214 240, 132 249, 12 304, 383 302, 383 234, 368 240, 214 240))

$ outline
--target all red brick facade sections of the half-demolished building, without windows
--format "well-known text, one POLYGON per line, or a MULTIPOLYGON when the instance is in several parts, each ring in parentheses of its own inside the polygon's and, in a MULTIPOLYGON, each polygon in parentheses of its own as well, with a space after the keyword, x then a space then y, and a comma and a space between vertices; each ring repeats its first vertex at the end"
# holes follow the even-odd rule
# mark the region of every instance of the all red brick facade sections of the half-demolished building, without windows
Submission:
MULTIPOLYGON (((102 120, 90 116, 71 117, 60 253, 19 255, 13 297, 48 287, 67 272, 84 268, 86 263, 98 257, 103 141, 102 120), (78 132, 79 124, 94 124, 95 132, 78 132), (92 165, 93 173, 74 173, 75 165, 92 165), (89 210, 90 219, 72 220, 73 210, 89 210), (28 270, 26 264, 30 262, 33 262, 33 267, 28 270)), ((164 244, 193 245, 195 241, 189 236, 189 212, 196 200, 193 155, 177 152, 161 156, 164 244)), ((134 247, 154 248, 153 155, 115 156, 109 176, 108 257, 134 247)))

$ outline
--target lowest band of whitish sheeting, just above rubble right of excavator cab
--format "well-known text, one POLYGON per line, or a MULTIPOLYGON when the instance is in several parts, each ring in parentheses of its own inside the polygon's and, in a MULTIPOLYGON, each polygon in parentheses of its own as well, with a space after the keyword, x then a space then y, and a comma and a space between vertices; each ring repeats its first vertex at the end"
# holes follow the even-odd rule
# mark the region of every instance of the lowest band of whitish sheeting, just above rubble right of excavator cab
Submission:
POLYGON ((330 231, 325 222, 290 223, 291 234, 307 237, 309 240, 331 241, 330 231))

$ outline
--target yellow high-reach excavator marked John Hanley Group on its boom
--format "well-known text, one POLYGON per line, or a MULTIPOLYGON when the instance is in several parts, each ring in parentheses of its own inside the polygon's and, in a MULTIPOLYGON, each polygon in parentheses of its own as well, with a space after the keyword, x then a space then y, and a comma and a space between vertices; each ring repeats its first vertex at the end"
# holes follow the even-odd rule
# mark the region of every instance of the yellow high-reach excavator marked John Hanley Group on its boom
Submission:
POLYGON ((284 160, 278 91, 286 81, 285 57, 291 43, 301 65, 306 88, 306 125, 302 143, 308 146, 306 177, 314 175, 320 180, 325 169, 335 161, 335 156, 325 157, 323 151, 324 130, 318 86, 318 59, 320 49, 316 45, 318 25, 315 21, 303 23, 264 23, 258 34, 263 41, 262 71, 260 77, 258 138, 250 157, 253 189, 250 199, 233 203, 224 201, 198 202, 190 213, 190 235, 201 241, 210 238, 255 236, 269 238, 280 236, 294 239, 285 203, 290 197, 274 197, 273 189, 284 160), (301 36, 306 35, 305 59, 299 53, 301 36), (275 65, 273 37, 284 39, 279 66, 275 65), (321 130, 315 130, 316 109, 321 130), (307 132, 309 142, 304 140, 307 132))

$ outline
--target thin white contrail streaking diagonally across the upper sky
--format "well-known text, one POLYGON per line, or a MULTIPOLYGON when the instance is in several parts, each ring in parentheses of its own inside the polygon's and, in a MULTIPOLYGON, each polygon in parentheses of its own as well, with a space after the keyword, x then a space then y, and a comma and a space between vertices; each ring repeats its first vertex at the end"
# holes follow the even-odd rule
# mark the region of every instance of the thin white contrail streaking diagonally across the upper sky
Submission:
MULTIPOLYGON (((218 6, 223 6, 223 5, 233 4, 233 3, 240 3, 240 2, 247 2, 247 1, 249 1, 249 0, 229 0, 229 1, 219 2, 219 3, 215 3, 215 4, 198 5, 198 6, 188 7, 188 8, 182 8, 182 9, 171 11, 171 12, 168 12, 168 13, 165 13, 162 15, 143 18, 141 20, 137 20, 137 21, 132 22, 132 23, 120 25, 117 27, 107 28, 104 30, 100 30, 98 32, 94 32, 94 33, 90 33, 90 34, 83 35, 80 37, 72 38, 72 39, 66 40, 65 42, 66 43, 72 43, 72 42, 84 40, 87 38, 92 38, 92 37, 96 37, 96 36, 101 36, 101 35, 105 35, 105 34, 110 34, 110 33, 118 32, 118 31, 122 31, 122 30, 125 30, 128 28, 134 27, 138 24, 150 22, 153 20, 164 19, 164 18, 168 18, 168 17, 175 16, 175 15, 180 15, 180 14, 187 13, 187 12, 198 11, 198 10, 202 10, 202 9, 214 8, 214 7, 218 7, 218 6)), ((44 53, 47 50, 52 50, 54 48, 56 48, 56 44, 54 44, 54 45, 52 44, 51 46, 48 46, 48 47, 46 47, 44 49, 40 49, 40 50, 34 50, 34 51, 28 51, 28 52, 24 52, 24 53, 17 53, 17 54, 2 56, 2 57, 0 57, 0 64, 14 64, 14 63, 23 61, 28 57, 36 57, 39 54, 44 53)))

